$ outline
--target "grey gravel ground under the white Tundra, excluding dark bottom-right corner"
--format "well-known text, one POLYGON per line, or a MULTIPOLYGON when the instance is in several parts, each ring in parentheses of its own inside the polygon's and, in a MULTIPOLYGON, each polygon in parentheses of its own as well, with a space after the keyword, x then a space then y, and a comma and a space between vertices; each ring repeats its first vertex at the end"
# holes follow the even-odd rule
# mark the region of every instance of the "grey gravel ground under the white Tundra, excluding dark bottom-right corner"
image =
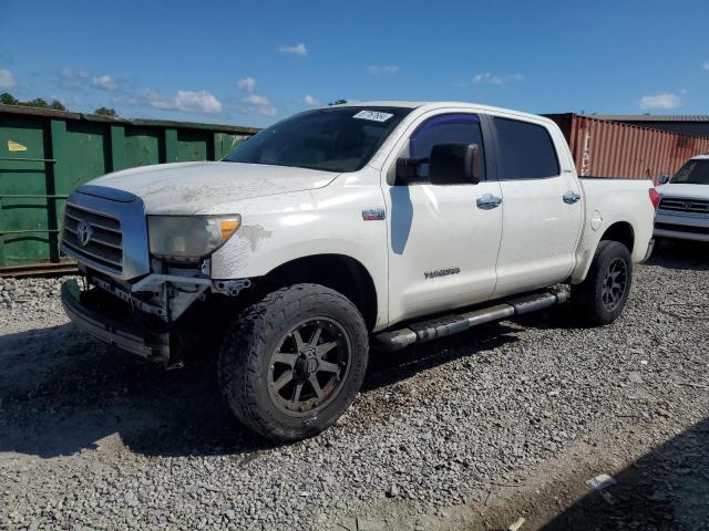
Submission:
POLYGON ((708 417, 706 251, 638 267, 612 326, 564 306, 377 353, 341 421, 287 446, 233 420, 213 363, 165 373, 68 324, 59 280, 0 279, 0 529, 540 527, 577 472, 708 417))

